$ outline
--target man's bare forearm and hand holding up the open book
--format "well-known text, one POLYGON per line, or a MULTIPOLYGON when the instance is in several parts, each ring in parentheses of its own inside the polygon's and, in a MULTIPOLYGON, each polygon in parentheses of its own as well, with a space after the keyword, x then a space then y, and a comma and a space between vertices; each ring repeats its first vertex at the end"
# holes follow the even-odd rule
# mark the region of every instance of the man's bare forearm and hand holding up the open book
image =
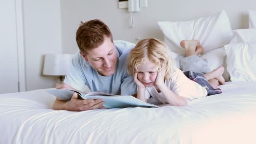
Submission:
MULTIPOLYGON (((72 89, 77 91, 75 88, 72 88, 70 85, 67 85, 65 83, 56 84, 56 88, 72 89)), ((103 104, 104 101, 102 101, 101 99, 79 99, 77 93, 74 93, 71 100, 69 101, 62 101, 61 99, 56 98, 53 104, 53 109, 68 111, 85 111, 91 109, 104 108, 103 104)))

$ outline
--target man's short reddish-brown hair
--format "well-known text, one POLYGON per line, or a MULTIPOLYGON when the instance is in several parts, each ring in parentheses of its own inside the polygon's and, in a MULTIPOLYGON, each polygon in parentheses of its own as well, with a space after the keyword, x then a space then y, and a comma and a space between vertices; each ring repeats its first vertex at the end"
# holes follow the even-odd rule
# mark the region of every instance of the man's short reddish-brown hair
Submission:
POLYGON ((77 29, 76 33, 78 48, 84 54, 86 54, 88 50, 98 48, 104 42, 105 37, 109 37, 113 43, 113 37, 109 27, 99 19, 85 23, 81 21, 80 27, 77 29))

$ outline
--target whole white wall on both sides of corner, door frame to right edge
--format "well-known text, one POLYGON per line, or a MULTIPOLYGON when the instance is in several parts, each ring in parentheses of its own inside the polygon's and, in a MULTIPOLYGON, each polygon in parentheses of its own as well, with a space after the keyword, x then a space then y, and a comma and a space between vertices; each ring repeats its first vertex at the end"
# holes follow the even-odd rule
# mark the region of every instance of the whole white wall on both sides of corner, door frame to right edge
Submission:
POLYGON ((130 27, 127 9, 118 9, 118 0, 23 0, 26 90, 51 88, 56 77, 43 76, 45 53, 75 53, 75 32, 80 21, 103 20, 115 40, 136 43, 136 38, 163 39, 157 21, 181 21, 227 11, 233 29, 248 28, 248 9, 254 0, 148 0, 148 7, 134 13, 130 27))

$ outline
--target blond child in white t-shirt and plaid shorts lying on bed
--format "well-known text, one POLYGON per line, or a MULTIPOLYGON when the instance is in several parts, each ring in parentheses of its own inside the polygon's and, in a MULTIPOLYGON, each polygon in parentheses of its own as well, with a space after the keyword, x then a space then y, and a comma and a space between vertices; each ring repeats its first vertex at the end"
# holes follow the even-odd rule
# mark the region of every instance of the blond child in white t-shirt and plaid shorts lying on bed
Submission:
MULTIPOLYGON (((137 98, 141 101, 147 101, 152 96, 163 104, 185 106, 188 100, 221 93, 220 89, 211 87, 203 74, 183 73, 176 68, 166 45, 155 38, 141 40, 133 48, 128 73, 134 77, 138 86, 137 98)), ((216 72, 210 75, 213 74, 216 72)))

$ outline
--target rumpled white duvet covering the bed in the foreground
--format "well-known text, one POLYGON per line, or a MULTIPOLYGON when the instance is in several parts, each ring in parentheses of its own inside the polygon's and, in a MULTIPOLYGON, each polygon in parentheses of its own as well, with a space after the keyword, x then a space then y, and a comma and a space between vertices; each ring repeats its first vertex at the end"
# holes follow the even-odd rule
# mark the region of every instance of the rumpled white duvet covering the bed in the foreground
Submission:
POLYGON ((53 110, 46 89, 0 95, 0 144, 256 144, 256 81, 186 107, 53 110))

